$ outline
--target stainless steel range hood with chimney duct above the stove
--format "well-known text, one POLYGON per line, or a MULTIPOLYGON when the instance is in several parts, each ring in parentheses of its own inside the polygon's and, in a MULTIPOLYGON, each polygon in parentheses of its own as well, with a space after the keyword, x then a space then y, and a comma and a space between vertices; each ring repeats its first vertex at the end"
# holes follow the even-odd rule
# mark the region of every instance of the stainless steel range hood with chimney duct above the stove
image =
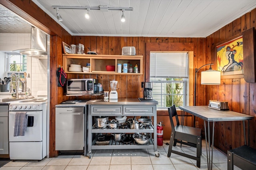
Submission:
POLYGON ((31 49, 18 49, 13 52, 38 59, 47 59, 47 35, 41 30, 31 28, 31 49))

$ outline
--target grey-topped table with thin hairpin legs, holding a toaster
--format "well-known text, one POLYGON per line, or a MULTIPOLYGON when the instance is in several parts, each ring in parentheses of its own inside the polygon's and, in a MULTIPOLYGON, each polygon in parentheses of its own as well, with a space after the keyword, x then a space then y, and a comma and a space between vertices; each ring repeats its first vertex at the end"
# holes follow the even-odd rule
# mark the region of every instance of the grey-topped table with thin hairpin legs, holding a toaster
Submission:
MULTIPOLYGON (((212 151, 214 144, 214 123, 216 121, 243 121, 244 127, 244 143, 246 145, 246 133, 245 133, 245 120, 253 119, 253 116, 246 115, 243 113, 238 113, 230 110, 216 110, 208 108, 208 106, 179 106, 181 109, 181 115, 184 116, 185 112, 188 112, 196 117, 199 117, 204 120, 204 129, 205 129, 205 141, 206 141, 206 156, 208 170, 212 170, 212 155, 210 156, 210 144, 207 145, 207 133, 208 141, 210 141, 210 128, 212 128, 212 151), (208 132, 206 132, 206 121, 209 127, 208 132), (210 127, 210 122, 212 122, 212 127, 210 127), (207 149, 208 148, 208 149, 207 149), (209 153, 209 157, 208 157, 209 153)), ((182 121, 181 121, 182 122, 182 121)), ((249 122, 248 122, 249 129, 249 122)), ((212 152, 213 153, 213 152, 212 152)))

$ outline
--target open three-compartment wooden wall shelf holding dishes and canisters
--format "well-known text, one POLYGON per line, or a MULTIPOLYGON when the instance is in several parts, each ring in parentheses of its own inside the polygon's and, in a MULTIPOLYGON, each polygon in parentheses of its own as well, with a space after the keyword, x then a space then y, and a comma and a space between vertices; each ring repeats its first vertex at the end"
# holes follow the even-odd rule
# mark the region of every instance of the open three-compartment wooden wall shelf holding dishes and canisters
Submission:
POLYGON ((109 74, 109 75, 142 75, 143 56, 141 55, 81 55, 81 54, 63 54, 63 68, 69 74, 109 74), (90 63, 90 72, 70 72, 70 64, 80 64, 81 67, 90 63), (139 73, 118 73, 117 64, 129 63, 132 67, 137 64, 139 73), (106 71, 106 65, 115 65, 115 71, 106 71))

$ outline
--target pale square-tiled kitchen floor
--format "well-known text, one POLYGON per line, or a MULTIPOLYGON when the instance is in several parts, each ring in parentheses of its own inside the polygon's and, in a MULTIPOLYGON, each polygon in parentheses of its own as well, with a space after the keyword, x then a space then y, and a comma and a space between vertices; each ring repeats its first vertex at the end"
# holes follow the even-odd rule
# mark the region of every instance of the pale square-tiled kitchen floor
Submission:
MULTIPOLYGON (((37 160, 11 161, 0 170, 206 170, 206 145, 202 141, 201 167, 196 167, 196 161, 171 154, 167 157, 169 141, 159 147, 160 157, 156 157, 153 149, 124 149, 124 150, 93 150, 92 158, 83 155, 62 155, 57 158, 37 160)), ((176 146, 190 154, 195 154, 195 148, 176 146)), ((239 168, 234 167, 235 170, 239 168)), ((227 156, 216 148, 213 149, 213 170, 227 170, 227 156)))

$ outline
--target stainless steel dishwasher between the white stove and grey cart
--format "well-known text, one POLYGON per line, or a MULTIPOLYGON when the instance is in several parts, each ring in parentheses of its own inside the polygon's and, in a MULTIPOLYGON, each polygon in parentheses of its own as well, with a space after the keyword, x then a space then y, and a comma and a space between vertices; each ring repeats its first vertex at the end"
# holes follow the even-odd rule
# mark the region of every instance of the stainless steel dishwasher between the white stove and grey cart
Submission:
POLYGON ((56 105, 55 150, 84 150, 85 106, 56 105))

